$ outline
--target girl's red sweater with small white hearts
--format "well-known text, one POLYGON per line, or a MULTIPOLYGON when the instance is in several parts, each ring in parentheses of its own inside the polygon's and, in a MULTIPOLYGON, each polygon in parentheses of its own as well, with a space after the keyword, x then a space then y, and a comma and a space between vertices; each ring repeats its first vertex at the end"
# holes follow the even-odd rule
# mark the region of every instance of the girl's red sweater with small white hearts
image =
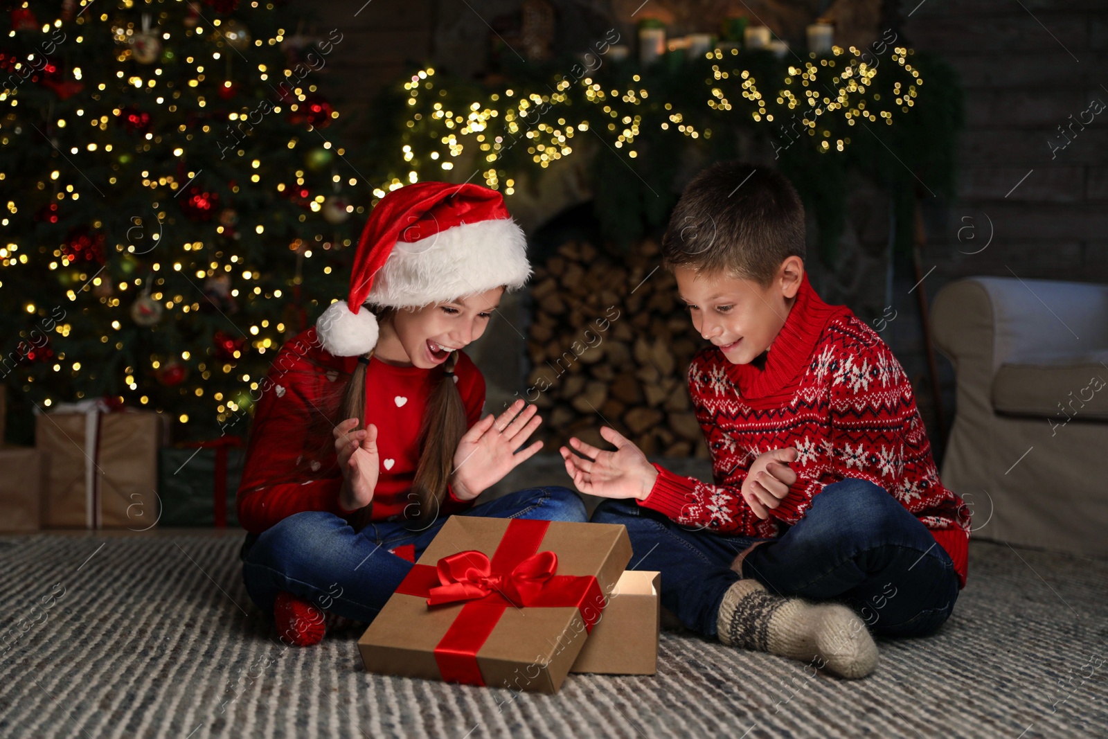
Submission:
MULTIPOLYGON (((266 379, 254 414, 246 465, 238 487, 238 521, 260 533, 301 511, 329 511, 346 516, 339 505, 342 472, 335 453, 334 424, 338 399, 357 357, 334 357, 310 328, 285 343, 266 379)), ((419 462, 419 432, 431 391, 443 377, 441 367, 425 370, 397 367, 376 357, 366 368, 366 423, 378 429, 380 476, 373 493, 372 520, 407 517, 419 462)), ((465 404, 466 425, 481 418, 485 383, 463 352, 454 369, 465 404)), ((472 505, 449 491, 440 515, 472 505)))

